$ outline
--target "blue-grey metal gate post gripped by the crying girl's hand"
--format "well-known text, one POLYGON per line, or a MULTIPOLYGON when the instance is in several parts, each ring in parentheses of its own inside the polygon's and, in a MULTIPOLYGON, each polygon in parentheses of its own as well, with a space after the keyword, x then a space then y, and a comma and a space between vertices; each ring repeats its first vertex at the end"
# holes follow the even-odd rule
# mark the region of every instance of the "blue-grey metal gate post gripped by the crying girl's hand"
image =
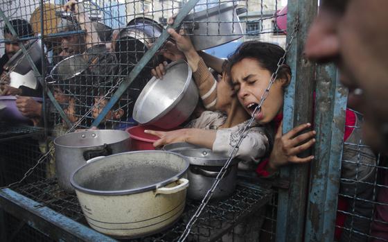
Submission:
MULTIPOLYGON (((315 64, 303 56, 308 27, 317 15, 317 0, 288 1, 288 36, 299 19, 299 32, 288 52, 287 62, 292 80, 285 92, 283 107, 283 133, 294 126, 312 121, 315 64)), ((310 152, 301 154, 306 157, 310 152)), ((279 190, 276 218, 276 241, 302 241, 308 192, 309 164, 294 164, 281 169, 281 178, 290 180, 288 190, 279 190)))

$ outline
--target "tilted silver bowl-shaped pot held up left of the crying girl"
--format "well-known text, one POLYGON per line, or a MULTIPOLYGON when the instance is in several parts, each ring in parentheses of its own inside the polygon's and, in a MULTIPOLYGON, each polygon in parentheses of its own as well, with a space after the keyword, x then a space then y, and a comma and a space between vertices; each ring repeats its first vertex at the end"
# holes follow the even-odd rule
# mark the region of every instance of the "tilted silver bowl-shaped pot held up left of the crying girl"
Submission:
POLYGON ((191 68, 179 60, 168 64, 162 80, 154 76, 145 85, 134 104, 133 119, 159 128, 175 128, 188 119, 197 102, 191 68))

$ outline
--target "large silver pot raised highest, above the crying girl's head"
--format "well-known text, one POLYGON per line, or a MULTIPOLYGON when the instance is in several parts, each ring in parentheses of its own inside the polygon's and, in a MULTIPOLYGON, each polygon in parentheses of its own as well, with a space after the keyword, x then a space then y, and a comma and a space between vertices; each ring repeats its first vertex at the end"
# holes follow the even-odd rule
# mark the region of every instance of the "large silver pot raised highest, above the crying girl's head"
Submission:
POLYGON ((213 8, 195 12, 184 18, 197 51, 226 44, 243 37, 240 19, 236 12, 236 3, 223 3, 213 8))

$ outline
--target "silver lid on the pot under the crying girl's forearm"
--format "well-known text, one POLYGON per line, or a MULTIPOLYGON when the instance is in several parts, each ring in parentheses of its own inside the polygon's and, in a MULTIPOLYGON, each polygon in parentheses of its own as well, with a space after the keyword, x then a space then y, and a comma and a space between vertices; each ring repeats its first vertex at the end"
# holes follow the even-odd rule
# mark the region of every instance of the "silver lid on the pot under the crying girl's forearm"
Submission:
MULTIPOLYGON (((188 162, 197 166, 224 166, 228 157, 220 153, 214 153, 209 148, 202 148, 188 143, 174 143, 163 147, 164 150, 183 155, 188 162)), ((233 159, 232 164, 237 164, 238 160, 233 159)))

